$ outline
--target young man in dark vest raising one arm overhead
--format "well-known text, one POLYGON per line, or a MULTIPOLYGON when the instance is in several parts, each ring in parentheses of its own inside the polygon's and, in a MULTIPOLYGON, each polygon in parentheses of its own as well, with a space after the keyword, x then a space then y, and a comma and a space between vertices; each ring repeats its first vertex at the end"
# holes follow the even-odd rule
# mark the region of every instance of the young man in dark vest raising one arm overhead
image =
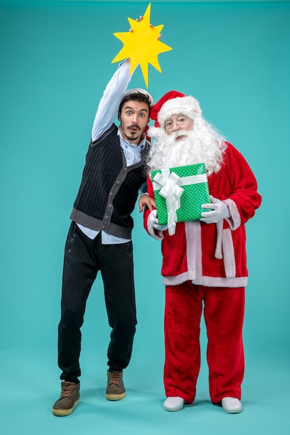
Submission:
MULTIPOLYGON (((144 161, 149 143, 145 129, 153 102, 145 90, 125 92, 130 79, 127 60, 109 81, 99 103, 70 215, 58 326, 61 397, 52 408, 55 416, 69 415, 79 402, 81 326, 99 271, 112 328, 106 399, 120 400, 126 394, 122 370, 129 364, 136 329, 131 213, 146 177, 144 161), (114 124, 117 112, 119 128, 114 124)), ((152 199, 147 199, 143 196, 143 202, 152 208, 152 199)))

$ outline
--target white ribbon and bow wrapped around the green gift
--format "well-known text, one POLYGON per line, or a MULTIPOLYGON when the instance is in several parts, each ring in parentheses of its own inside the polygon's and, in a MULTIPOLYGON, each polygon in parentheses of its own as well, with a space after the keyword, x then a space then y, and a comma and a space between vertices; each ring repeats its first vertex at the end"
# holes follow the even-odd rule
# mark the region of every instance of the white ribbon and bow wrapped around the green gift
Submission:
POLYGON ((180 197, 184 189, 181 186, 188 184, 197 184, 207 182, 207 174, 190 175, 188 177, 179 177, 175 172, 169 169, 163 169, 155 174, 153 181, 154 190, 159 190, 159 195, 166 199, 168 212, 168 233, 170 236, 175 234, 177 222, 177 210, 180 208, 180 197))

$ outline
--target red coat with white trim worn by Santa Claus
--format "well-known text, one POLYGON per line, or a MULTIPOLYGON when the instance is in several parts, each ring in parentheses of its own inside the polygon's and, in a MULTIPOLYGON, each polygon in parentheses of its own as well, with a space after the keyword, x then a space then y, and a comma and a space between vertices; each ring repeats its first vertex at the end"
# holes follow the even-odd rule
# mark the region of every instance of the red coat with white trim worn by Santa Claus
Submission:
MULTIPOLYGON (((242 154, 227 143, 223 165, 209 176, 209 193, 225 202, 231 217, 206 224, 200 221, 178 222, 175 234, 156 231, 144 212, 144 227, 151 236, 162 240, 163 284, 177 285, 190 280, 209 287, 245 287, 248 270, 245 253, 245 222, 261 204, 257 181, 242 154)), ((148 194, 154 197, 152 181, 147 179, 148 194)))

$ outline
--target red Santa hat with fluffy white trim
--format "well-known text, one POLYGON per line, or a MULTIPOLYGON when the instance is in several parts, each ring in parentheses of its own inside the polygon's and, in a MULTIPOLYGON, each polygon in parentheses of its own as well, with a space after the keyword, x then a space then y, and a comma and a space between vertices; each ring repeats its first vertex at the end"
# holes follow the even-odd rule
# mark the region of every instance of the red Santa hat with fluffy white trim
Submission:
POLYGON ((163 127, 166 120, 177 113, 187 115, 193 120, 196 115, 202 114, 202 110, 195 98, 190 95, 186 96, 177 90, 170 90, 152 106, 150 117, 155 121, 155 127, 163 127))

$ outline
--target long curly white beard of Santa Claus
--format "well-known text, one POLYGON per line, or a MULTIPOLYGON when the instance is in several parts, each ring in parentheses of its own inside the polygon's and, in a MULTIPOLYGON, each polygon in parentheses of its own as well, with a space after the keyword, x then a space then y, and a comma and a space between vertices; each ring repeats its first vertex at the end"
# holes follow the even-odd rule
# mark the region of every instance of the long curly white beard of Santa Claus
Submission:
POLYGON ((155 140, 147 159, 149 170, 195 163, 204 163, 208 175, 220 170, 225 140, 204 120, 195 121, 190 131, 179 130, 168 135, 163 129, 156 129, 152 136, 155 140))

